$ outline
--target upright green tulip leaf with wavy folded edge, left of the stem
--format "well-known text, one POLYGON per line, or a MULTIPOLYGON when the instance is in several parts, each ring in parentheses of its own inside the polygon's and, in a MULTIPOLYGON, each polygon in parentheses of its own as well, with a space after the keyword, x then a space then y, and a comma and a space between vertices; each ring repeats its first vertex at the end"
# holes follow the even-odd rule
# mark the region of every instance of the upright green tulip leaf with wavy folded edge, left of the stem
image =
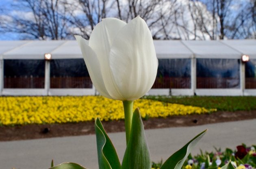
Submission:
POLYGON ((106 134, 100 119, 95 120, 99 169, 121 169, 117 152, 106 134))

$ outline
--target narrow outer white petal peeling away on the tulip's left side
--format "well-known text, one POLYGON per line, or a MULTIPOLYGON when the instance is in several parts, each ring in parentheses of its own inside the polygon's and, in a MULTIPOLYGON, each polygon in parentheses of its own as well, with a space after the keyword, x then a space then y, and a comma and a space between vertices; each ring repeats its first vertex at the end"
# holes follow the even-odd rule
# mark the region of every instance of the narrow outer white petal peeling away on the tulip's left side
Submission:
POLYGON ((93 49, 91 49, 91 47, 88 46, 87 40, 83 39, 81 36, 78 35, 75 35, 75 38, 82 51, 82 56, 85 60, 85 64, 91 77, 91 81, 93 82, 93 85, 102 96, 111 98, 104 86, 100 62, 98 61, 96 53, 93 51, 93 49))

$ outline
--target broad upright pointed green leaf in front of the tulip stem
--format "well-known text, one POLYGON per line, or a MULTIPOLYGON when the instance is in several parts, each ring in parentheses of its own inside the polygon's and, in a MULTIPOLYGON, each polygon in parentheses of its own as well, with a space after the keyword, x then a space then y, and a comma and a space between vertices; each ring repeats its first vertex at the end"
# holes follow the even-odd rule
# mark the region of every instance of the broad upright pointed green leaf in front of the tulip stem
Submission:
POLYGON ((124 153, 122 169, 151 169, 150 152, 139 108, 135 109, 132 116, 130 139, 124 153))

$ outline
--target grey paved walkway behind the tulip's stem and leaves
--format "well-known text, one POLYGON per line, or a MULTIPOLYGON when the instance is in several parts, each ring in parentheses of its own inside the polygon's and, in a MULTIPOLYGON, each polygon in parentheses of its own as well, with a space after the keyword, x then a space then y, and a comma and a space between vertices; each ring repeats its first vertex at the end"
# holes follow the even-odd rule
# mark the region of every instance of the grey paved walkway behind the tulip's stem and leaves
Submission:
MULTIPOLYGON (((193 127, 176 127, 146 130, 154 162, 167 159, 195 135, 208 128, 208 133, 194 148, 192 154, 232 148, 245 143, 256 144, 256 119, 238 122, 207 124, 193 127)), ((124 154, 125 134, 109 134, 120 158, 124 154)), ((55 164, 75 162, 98 169, 95 135, 0 142, 0 169, 48 169, 55 164)))

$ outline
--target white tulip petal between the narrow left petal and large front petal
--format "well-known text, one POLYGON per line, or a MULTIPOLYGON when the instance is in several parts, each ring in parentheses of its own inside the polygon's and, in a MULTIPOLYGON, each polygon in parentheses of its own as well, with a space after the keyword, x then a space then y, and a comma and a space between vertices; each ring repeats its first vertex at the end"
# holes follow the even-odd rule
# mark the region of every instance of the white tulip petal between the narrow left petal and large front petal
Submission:
POLYGON ((109 66, 109 51, 117 32, 125 25, 126 23, 124 21, 116 18, 102 19, 102 22, 97 24, 93 29, 89 40, 89 46, 98 56, 106 90, 112 98, 117 100, 123 100, 123 98, 121 97, 117 84, 115 84, 109 66))

